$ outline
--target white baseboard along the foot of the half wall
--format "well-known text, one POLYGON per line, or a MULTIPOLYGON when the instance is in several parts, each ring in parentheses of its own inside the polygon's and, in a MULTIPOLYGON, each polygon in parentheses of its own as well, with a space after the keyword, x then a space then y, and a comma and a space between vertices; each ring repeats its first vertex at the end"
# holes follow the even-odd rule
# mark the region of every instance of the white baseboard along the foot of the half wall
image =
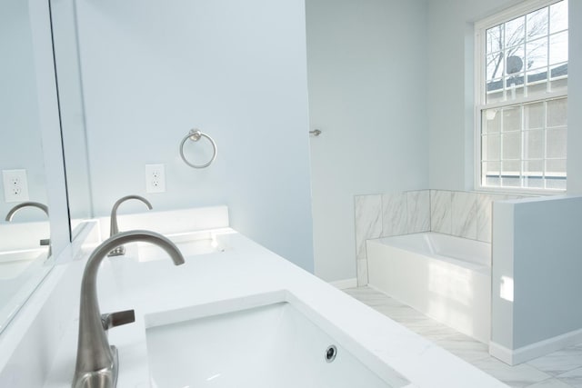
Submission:
POLYGON ((557 335, 547 340, 531 343, 511 350, 493 341, 489 342, 489 354, 509 365, 527 363, 537 357, 556 352, 567 346, 582 342, 582 329, 557 335))

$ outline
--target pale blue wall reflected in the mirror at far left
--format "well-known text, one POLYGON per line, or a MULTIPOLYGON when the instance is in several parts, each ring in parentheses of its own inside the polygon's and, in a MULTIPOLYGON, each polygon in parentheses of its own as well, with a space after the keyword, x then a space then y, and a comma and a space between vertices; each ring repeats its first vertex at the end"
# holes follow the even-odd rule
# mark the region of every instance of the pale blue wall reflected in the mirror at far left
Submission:
MULTIPOLYGON (((5 202, 1 170, 25 169, 29 199, 47 201, 28 2, 2 3, 0 50, 0 224, 4 224, 5 215, 18 203, 5 202)), ((13 222, 26 221, 46 221, 46 215, 37 209, 22 210, 13 222)))

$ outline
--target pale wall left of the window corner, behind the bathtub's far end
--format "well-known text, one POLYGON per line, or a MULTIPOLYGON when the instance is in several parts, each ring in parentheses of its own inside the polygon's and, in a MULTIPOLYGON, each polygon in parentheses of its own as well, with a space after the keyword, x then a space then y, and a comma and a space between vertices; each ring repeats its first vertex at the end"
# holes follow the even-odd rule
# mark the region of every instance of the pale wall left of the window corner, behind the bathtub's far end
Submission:
POLYGON ((316 274, 356 277, 354 195, 426 188, 426 1, 309 0, 316 274))

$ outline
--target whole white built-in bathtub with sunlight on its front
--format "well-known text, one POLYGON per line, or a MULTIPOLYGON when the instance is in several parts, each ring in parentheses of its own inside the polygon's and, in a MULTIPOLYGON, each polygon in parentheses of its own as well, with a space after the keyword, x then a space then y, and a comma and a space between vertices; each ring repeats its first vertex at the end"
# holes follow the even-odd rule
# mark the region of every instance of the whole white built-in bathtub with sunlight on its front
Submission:
POLYGON ((366 250, 371 287, 489 342, 491 244, 428 232, 368 240, 366 250))

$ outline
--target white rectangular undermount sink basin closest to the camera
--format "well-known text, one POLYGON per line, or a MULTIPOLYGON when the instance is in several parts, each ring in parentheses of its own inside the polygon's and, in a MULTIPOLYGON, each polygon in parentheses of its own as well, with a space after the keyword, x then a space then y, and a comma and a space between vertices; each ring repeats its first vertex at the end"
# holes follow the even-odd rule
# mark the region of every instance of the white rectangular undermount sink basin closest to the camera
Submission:
MULTIPOLYGON (((300 310, 305 305, 280 292, 146 316, 152 387, 397 388, 408 384, 387 365, 379 373, 372 372, 342 341, 300 310)), ((350 347, 354 348, 353 341, 350 347)), ((356 353, 372 356, 364 349, 356 353)))

